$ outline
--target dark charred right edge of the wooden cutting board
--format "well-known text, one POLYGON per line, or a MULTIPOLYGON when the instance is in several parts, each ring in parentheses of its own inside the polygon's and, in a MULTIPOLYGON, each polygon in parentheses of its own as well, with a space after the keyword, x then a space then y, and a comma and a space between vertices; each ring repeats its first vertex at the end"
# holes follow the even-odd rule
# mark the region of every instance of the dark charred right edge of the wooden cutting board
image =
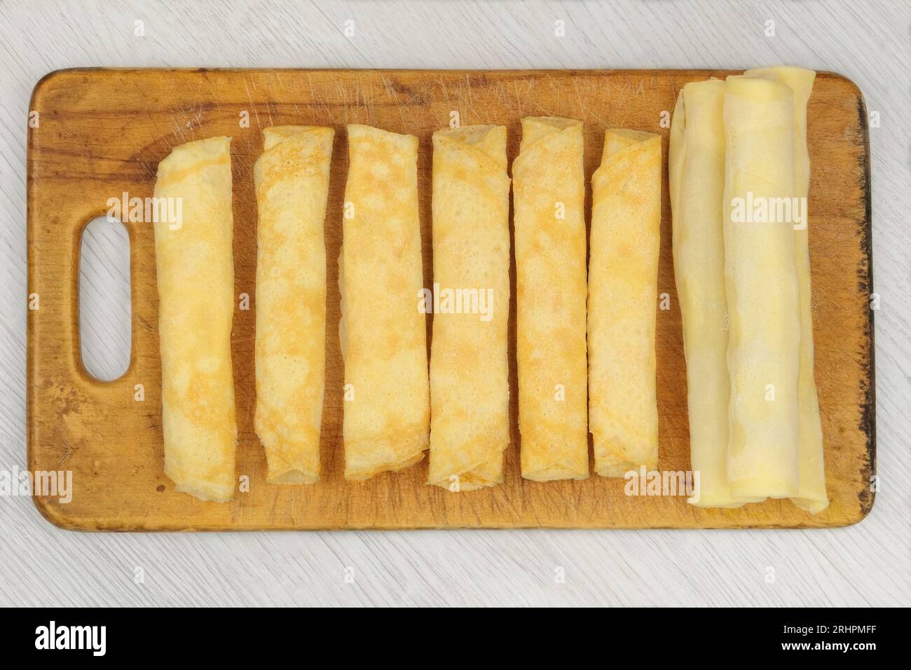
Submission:
POLYGON ((860 168, 860 189, 864 197, 864 222, 860 230, 860 251, 862 262, 857 266, 858 288, 866 295, 866 313, 864 335, 866 337, 867 351, 865 352, 864 372, 861 376, 860 391, 864 397, 860 404, 860 423, 858 428, 866 436, 866 463, 861 469, 861 477, 865 486, 857 498, 860 501, 860 518, 863 521, 875 501, 873 490, 873 476, 876 472, 876 366, 875 366, 875 328, 874 313, 870 304, 873 288, 873 191, 870 176, 870 129, 866 114, 864 95, 857 90, 857 120, 860 142, 863 151, 860 154, 858 167, 860 168), (865 263, 864 263, 865 261, 865 263))

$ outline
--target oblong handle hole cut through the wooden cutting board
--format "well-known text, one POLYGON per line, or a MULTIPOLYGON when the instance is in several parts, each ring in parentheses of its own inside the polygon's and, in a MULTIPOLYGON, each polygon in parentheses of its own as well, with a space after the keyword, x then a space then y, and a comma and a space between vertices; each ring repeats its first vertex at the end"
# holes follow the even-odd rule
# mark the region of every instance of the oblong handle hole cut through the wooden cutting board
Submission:
POLYGON ((81 237, 79 353, 88 375, 113 381, 127 372, 132 346, 129 234, 118 219, 99 216, 81 237))

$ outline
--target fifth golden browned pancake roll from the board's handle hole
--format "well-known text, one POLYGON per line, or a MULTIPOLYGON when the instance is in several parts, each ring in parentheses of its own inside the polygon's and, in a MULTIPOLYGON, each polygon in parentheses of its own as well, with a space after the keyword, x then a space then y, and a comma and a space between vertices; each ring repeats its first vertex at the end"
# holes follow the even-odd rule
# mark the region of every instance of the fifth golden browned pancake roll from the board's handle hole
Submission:
POLYGON ((582 122, 522 119, 513 163, 522 476, 589 476, 582 122))

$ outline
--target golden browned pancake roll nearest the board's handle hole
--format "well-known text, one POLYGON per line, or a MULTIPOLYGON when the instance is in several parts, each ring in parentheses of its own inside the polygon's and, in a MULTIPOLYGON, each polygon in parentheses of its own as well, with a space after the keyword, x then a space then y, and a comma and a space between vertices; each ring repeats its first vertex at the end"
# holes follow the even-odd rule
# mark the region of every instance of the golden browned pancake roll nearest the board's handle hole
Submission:
POLYGON ((200 500, 230 500, 237 444, 230 138, 176 147, 159 163, 155 197, 175 199, 181 213, 179 221, 155 222, 165 474, 200 500))

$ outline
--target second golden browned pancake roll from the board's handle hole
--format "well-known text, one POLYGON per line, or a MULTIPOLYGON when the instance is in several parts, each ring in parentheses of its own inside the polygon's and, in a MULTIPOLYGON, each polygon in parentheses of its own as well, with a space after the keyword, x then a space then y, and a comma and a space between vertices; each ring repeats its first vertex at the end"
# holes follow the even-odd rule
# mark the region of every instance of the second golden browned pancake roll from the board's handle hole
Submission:
POLYGON ((269 481, 320 479, 325 375, 326 249, 333 129, 262 133, 256 183, 256 434, 269 481))

